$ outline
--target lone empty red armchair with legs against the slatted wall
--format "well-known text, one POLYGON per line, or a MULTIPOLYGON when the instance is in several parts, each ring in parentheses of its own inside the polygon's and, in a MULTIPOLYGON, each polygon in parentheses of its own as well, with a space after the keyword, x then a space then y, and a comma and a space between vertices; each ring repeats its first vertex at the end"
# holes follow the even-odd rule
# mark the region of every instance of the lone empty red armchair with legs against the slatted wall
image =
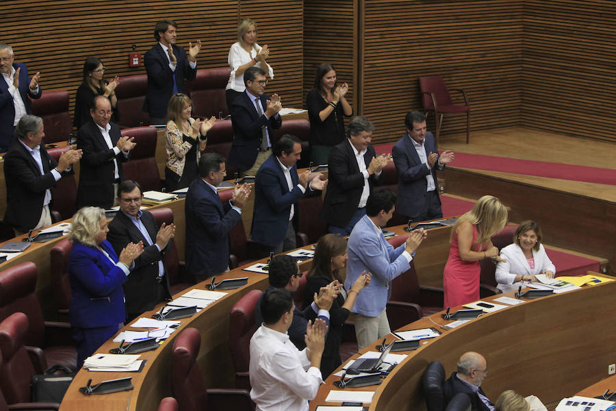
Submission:
POLYGON ((452 88, 462 93, 464 97, 464 105, 454 104, 449 90, 441 75, 431 75, 420 77, 420 90, 422 90, 422 103, 424 110, 433 111, 436 123, 436 141, 439 142, 439 134, 441 130, 441 122, 443 114, 463 114, 466 113, 466 144, 470 136, 470 105, 464 90, 452 88), (440 118, 439 118, 440 114, 440 118))

